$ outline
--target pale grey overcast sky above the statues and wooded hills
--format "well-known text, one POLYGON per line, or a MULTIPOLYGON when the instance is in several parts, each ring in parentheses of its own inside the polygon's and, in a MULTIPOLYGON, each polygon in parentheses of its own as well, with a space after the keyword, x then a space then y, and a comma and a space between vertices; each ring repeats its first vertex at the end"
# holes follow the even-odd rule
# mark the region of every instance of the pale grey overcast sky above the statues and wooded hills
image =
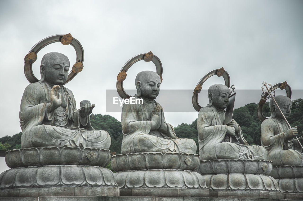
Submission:
MULTIPOLYGON (((84 69, 65 86, 77 101, 96 104, 93 113, 121 121, 120 112, 106 112, 106 89, 128 59, 150 50, 163 64, 160 89, 193 90, 203 75, 224 66, 236 89, 258 89, 253 97, 237 96, 238 106, 258 102, 262 81, 287 80, 302 89, 303 1, 4 1, 0 0, 1 99, 0 137, 21 131, 20 101, 29 84, 24 57, 40 40, 72 34, 83 46, 84 69)), ((48 52, 68 56, 72 46, 53 43, 38 53, 33 71, 48 52)), ((135 89, 135 76, 153 70, 152 62, 137 62, 127 72, 125 89, 135 89)), ((223 78, 210 78, 203 89, 223 78)), ((132 94, 133 95, 133 94, 132 94)), ((161 94, 159 97, 164 97, 161 94)), ((293 94, 293 97, 299 96, 293 94)), ((191 105, 191 94, 176 95, 191 105)), ((301 97, 302 98, 302 97, 301 97)), ((199 96, 199 100, 207 100, 199 96)), ((207 101, 206 101, 207 102, 207 101)), ((160 102, 161 104, 161 102, 160 102)), ((166 102, 161 104, 164 107, 166 102)), ((191 123, 198 112, 167 112, 168 123, 191 123)))

